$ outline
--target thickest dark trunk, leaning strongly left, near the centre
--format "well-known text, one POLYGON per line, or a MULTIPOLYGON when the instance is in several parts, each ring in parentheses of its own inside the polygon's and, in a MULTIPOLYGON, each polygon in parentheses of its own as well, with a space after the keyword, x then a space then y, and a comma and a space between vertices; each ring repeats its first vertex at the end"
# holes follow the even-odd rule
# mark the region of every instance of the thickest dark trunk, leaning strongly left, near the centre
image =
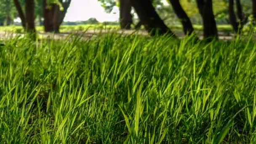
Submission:
POLYGON ((166 33, 174 35, 158 16, 151 0, 130 0, 130 2, 139 16, 141 24, 151 35, 163 35, 166 33))

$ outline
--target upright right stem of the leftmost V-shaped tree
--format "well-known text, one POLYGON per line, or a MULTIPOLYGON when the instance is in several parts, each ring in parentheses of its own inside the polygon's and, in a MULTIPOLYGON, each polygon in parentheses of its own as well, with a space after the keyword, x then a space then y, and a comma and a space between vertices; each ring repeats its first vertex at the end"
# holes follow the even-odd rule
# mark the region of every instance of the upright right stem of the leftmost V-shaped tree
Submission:
POLYGON ((35 32, 35 3, 34 0, 25 0, 25 15, 26 15, 26 29, 27 32, 35 32))

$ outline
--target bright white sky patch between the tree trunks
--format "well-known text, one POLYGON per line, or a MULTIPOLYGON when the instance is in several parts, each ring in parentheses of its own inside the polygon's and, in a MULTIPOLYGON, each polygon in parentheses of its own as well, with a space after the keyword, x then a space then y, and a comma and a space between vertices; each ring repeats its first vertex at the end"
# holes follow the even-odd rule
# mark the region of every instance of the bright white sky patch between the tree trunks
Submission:
POLYGON ((96 18, 98 21, 117 21, 119 9, 115 7, 112 13, 106 13, 98 0, 72 0, 64 21, 85 21, 96 18))

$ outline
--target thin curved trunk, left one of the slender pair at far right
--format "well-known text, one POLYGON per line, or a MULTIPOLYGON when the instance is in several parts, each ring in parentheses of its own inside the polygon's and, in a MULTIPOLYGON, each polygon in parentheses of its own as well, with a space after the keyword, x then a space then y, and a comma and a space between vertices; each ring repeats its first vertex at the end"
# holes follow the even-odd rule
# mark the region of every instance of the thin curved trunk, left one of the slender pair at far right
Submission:
POLYGON ((229 0, 229 22, 235 32, 238 32, 238 23, 234 11, 234 0, 229 0))

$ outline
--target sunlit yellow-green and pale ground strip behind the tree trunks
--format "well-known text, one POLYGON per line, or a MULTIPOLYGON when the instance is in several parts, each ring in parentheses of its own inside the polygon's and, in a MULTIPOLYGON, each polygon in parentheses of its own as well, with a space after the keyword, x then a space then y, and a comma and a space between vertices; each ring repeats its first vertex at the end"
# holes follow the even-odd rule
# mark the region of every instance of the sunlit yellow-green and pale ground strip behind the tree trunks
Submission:
MULTIPOLYGON (((203 38, 202 26, 194 25, 197 35, 200 39, 203 38)), ((176 25, 171 27, 173 32, 178 37, 184 37, 184 32, 182 31, 181 25, 176 25)), ((219 38, 221 40, 232 40, 234 33, 232 32, 232 27, 227 24, 218 25, 219 29, 219 38)), ((120 30, 118 25, 104 25, 104 24, 84 24, 84 25, 75 25, 75 26, 61 26, 60 34, 53 35, 52 33, 43 32, 43 27, 37 27, 38 34, 40 37, 51 37, 55 39, 68 37, 70 34, 82 33, 85 37, 91 37, 91 35, 98 35, 100 33, 107 32, 117 32, 122 34, 131 34, 136 33, 139 35, 148 35, 144 29, 140 30, 120 30)), ((9 37, 10 35, 23 35, 23 28, 21 26, 8 26, 0 27, 0 37, 9 37)))

